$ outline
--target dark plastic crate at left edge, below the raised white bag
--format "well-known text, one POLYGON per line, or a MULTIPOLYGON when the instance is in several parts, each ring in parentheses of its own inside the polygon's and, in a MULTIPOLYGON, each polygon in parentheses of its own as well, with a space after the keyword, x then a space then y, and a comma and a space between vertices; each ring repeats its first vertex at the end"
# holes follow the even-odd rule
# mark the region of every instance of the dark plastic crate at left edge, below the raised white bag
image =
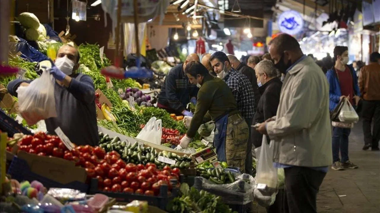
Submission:
POLYGON ((8 133, 8 137, 13 137, 16 133, 23 133, 24 135, 33 135, 32 132, 27 130, 17 121, 9 117, 3 110, 0 110, 0 129, 8 133))

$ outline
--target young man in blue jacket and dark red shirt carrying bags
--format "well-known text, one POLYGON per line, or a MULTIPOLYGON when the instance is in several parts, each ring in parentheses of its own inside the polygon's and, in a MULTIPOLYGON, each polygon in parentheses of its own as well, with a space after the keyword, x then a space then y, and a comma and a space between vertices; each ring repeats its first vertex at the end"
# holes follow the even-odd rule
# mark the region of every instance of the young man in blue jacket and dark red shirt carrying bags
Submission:
MULTIPOLYGON (((335 65, 326 72, 329 83, 330 111, 338 105, 340 99, 348 98, 352 105, 357 105, 360 100, 360 90, 358 77, 351 65, 348 63, 348 47, 336 46, 334 48, 335 65)), ((332 166, 334 170, 344 170, 345 168, 356 169, 348 158, 348 136, 350 128, 332 128, 332 166), (340 158, 339 158, 340 150, 340 158)))

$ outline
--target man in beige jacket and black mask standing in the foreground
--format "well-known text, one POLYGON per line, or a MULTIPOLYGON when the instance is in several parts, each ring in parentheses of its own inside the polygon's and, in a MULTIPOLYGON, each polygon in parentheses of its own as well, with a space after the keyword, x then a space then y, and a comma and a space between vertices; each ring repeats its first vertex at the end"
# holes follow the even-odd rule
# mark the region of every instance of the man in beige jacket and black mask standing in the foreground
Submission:
POLYGON ((269 53, 285 80, 276 116, 257 130, 274 141, 274 167, 284 168, 289 212, 316 213, 318 189, 332 163, 329 85, 292 36, 274 38, 269 53))

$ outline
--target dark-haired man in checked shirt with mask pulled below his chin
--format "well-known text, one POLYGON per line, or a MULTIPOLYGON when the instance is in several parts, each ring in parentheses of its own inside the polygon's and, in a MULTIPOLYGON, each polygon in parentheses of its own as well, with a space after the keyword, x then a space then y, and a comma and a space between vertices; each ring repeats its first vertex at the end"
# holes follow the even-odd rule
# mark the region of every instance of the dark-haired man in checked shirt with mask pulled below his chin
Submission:
MULTIPOLYGON (((245 119, 245 122, 249 126, 252 125, 255 114, 255 96, 249 79, 232 68, 230 60, 228 60, 227 55, 223 52, 218 51, 213 53, 210 57, 210 62, 218 77, 222 78, 230 87, 237 103, 237 109, 245 119)), ((249 130, 251 129, 249 128, 249 130)), ((252 141, 250 140, 250 136, 248 142, 245 172, 252 175, 252 141)))

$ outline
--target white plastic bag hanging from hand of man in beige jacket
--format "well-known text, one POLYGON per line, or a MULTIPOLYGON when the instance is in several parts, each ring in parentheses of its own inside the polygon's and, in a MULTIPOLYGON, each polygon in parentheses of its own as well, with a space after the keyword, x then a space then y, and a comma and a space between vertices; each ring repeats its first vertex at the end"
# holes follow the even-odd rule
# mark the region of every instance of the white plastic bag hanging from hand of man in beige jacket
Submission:
POLYGON ((266 137, 263 136, 256 165, 256 183, 265 184, 269 188, 277 188, 277 169, 273 167, 273 143, 272 140, 268 145, 266 137))

